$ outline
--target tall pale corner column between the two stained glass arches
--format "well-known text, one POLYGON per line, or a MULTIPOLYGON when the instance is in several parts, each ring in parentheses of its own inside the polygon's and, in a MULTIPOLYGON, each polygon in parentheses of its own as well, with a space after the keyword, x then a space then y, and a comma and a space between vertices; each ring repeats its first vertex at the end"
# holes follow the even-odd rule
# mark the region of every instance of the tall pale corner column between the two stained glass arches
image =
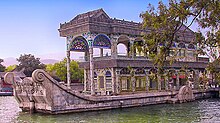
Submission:
POLYGON ((89 48, 89 64, 90 64, 90 83, 91 83, 91 95, 95 95, 95 84, 94 84, 94 62, 93 62, 93 48, 89 48))

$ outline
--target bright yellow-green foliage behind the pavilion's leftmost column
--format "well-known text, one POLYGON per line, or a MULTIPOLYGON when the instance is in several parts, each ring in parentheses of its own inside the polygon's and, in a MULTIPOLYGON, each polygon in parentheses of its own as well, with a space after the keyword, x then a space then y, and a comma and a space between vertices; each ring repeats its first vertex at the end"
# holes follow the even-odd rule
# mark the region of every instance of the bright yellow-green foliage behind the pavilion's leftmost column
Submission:
MULTIPOLYGON (((59 63, 54 65, 49 64, 46 67, 46 71, 49 72, 52 76, 57 76, 60 80, 67 80, 67 69, 66 69, 67 60, 64 59, 59 63)), ((70 62, 70 75, 71 81, 82 81, 83 79, 83 70, 79 68, 79 65, 76 61, 70 62)))

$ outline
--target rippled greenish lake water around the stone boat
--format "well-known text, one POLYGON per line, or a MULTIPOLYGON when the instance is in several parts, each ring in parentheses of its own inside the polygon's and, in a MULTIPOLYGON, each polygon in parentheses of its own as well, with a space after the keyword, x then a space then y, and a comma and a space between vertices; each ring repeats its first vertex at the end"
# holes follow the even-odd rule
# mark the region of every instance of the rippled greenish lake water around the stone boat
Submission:
POLYGON ((21 112, 14 97, 0 97, 0 123, 220 123, 220 99, 62 115, 21 112))

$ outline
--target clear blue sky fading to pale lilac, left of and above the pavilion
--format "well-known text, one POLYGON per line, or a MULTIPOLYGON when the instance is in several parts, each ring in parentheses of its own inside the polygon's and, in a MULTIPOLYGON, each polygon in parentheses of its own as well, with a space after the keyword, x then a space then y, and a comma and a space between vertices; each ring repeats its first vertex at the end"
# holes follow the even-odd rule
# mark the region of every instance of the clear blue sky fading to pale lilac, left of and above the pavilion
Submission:
MULTIPOLYGON (((159 0, 1 0, 0 58, 36 57, 62 59, 66 41, 59 37, 59 23, 77 14, 103 8, 112 18, 140 22, 139 14, 159 0)), ((167 1, 167 0, 164 0, 167 1)), ((77 56, 75 56, 77 57, 77 56)))

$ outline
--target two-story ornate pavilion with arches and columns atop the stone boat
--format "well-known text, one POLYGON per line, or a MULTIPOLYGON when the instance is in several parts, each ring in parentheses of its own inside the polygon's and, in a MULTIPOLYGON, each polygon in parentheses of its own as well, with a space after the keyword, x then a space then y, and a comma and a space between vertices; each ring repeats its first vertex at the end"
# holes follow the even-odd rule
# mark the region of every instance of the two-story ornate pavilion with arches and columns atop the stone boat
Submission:
POLYGON ((139 50, 146 48, 141 33, 150 31, 142 30, 141 26, 141 23, 110 18, 103 9, 79 14, 60 24, 60 36, 67 41, 68 86, 70 52, 74 51, 85 54, 80 67, 84 69, 84 92, 91 95, 178 90, 189 82, 197 87, 208 59, 198 57, 194 32, 186 26, 180 29, 170 52, 171 56, 178 52, 178 62, 164 66, 164 74, 159 75, 148 54, 139 50), (118 52, 120 44, 126 47, 125 55, 118 52), (100 49, 98 57, 93 55, 94 48, 100 49), (110 49, 111 53, 104 55, 103 49, 110 49))

